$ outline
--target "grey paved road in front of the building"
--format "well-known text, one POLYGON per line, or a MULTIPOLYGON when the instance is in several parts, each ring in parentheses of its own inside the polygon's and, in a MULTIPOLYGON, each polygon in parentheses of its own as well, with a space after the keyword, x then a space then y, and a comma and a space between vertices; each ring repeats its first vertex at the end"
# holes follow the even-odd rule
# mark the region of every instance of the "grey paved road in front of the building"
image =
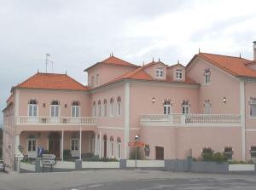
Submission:
POLYGON ((0 190, 210 190, 256 189, 256 176, 145 170, 86 170, 59 173, 0 173, 0 190))

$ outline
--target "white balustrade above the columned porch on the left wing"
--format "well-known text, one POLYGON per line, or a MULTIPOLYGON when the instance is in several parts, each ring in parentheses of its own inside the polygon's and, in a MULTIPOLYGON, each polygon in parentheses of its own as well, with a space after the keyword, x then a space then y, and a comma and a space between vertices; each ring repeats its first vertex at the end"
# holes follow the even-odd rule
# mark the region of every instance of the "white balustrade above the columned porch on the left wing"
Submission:
POLYGON ((16 124, 23 125, 96 125, 95 117, 19 116, 16 124))

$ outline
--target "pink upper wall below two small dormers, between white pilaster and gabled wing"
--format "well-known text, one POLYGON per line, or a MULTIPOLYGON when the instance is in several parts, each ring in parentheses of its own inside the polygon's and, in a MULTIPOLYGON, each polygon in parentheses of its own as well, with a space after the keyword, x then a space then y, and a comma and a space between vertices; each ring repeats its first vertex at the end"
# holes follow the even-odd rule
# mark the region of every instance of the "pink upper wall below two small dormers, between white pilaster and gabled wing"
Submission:
POLYGON ((139 127, 139 117, 143 114, 163 114, 163 101, 172 100, 172 113, 182 112, 183 100, 189 100, 190 112, 198 112, 197 85, 131 83, 130 119, 131 127, 139 127), (152 98, 155 102, 152 103, 152 98))

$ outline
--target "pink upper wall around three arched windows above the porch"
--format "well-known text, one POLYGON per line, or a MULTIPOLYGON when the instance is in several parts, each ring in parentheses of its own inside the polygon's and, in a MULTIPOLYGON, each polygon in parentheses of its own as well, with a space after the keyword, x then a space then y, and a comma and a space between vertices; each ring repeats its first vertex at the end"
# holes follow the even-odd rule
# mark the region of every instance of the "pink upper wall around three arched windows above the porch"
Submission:
POLYGON ((19 89, 20 107, 19 115, 27 116, 27 105, 31 99, 38 101, 38 115, 50 116, 51 101, 57 100, 61 104, 61 117, 71 117, 73 101, 80 102, 80 116, 90 116, 90 97, 84 91, 76 90, 46 90, 46 89, 19 89), (45 107, 43 106, 45 103, 45 107), (65 108, 67 104, 67 108, 65 108))

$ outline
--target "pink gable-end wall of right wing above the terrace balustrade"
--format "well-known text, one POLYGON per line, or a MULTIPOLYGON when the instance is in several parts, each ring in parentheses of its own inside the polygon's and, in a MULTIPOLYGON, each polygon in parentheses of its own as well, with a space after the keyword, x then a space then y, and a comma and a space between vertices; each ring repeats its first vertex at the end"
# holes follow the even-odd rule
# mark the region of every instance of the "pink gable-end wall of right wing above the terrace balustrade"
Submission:
POLYGON ((199 112, 204 112, 204 102, 210 100, 214 114, 240 114, 238 79, 201 58, 195 60, 186 72, 189 78, 193 78, 196 83, 201 83, 198 101, 199 112), (211 70, 210 84, 204 82, 204 71, 207 68, 211 70), (226 103, 223 101, 224 97, 227 100, 226 103))

